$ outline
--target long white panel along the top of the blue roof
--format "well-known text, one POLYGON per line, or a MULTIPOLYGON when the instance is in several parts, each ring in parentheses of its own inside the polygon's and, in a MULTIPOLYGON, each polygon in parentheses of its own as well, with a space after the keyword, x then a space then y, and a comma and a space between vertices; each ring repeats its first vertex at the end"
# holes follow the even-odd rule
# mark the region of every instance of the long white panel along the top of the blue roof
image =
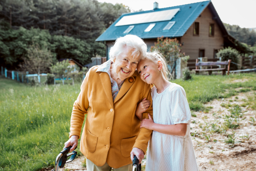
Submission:
POLYGON ((151 23, 157 21, 167 21, 172 20, 172 18, 180 11, 179 8, 177 9, 169 9, 163 10, 158 12, 148 12, 144 14, 134 14, 134 15, 127 15, 122 17, 115 26, 125 26, 131 24, 140 24, 140 23, 151 23))

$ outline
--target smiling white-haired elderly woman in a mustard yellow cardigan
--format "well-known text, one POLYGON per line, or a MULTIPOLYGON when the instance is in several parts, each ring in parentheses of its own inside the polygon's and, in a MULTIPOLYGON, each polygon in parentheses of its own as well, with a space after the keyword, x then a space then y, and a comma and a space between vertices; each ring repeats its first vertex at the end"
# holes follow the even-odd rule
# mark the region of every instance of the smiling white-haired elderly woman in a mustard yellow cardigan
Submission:
MULTIPOLYGON (((87 72, 81 92, 73 105, 70 139, 65 147, 78 145, 84 115, 80 151, 88 171, 131 171, 134 155, 144 158, 152 130, 140 129, 135 116, 137 104, 151 100, 151 88, 140 79, 136 67, 147 46, 135 35, 118 38, 111 47, 110 60, 87 72)), ((152 103, 151 103, 152 104, 152 103)), ((152 115, 152 106, 143 119, 152 115)))

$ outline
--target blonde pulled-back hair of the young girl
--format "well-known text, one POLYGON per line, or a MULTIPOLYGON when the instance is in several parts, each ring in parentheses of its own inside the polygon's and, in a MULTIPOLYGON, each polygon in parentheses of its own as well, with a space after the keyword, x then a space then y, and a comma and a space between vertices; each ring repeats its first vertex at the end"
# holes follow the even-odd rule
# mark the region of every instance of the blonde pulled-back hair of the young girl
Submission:
POLYGON ((154 62, 156 65, 158 65, 158 61, 161 61, 163 64, 163 67, 161 69, 162 75, 164 78, 166 78, 167 81, 169 81, 172 78, 171 73, 168 70, 166 59, 163 57, 162 53, 159 52, 159 50, 154 50, 152 52, 147 52, 144 58, 141 58, 141 60, 150 60, 154 62))

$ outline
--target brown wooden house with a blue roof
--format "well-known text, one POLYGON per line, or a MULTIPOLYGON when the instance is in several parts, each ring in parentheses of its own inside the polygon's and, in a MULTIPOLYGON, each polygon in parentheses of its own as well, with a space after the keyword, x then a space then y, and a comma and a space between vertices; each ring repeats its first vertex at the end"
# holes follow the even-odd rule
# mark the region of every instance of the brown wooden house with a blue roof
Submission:
POLYGON ((216 58, 219 49, 227 46, 244 52, 239 41, 230 36, 210 0, 143 12, 122 14, 96 41, 106 44, 108 52, 116 38, 127 34, 142 38, 150 49, 157 38, 177 38, 182 52, 190 59, 216 58))

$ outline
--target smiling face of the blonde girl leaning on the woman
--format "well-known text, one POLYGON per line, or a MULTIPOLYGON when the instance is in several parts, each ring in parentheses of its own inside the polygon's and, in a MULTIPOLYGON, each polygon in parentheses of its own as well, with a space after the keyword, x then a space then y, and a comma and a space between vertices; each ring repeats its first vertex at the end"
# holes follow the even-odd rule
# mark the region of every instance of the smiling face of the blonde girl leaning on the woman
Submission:
POLYGON ((140 78, 147 84, 154 84, 157 78, 162 76, 162 73, 159 71, 161 69, 161 66, 150 60, 140 61, 137 66, 137 71, 140 74, 140 78))

